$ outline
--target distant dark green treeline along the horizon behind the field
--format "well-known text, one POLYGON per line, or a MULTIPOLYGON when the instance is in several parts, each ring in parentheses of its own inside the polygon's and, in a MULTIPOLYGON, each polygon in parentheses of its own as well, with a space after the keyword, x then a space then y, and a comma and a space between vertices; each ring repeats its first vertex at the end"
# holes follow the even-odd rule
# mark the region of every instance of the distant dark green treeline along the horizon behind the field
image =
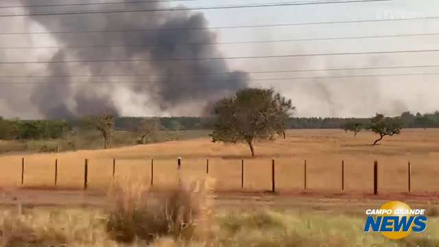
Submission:
MULTIPOLYGON (((400 117, 403 128, 439 128, 439 111, 431 114, 403 113, 400 117)), ((162 130, 211 130, 213 121, 209 117, 117 117, 116 130, 136 131, 144 119, 156 119, 162 130)), ((343 128, 347 123, 367 125, 368 118, 338 117, 292 117, 287 129, 343 128)), ((58 139, 69 131, 89 129, 83 119, 76 120, 21 120, 0 117, 0 139, 58 139)))

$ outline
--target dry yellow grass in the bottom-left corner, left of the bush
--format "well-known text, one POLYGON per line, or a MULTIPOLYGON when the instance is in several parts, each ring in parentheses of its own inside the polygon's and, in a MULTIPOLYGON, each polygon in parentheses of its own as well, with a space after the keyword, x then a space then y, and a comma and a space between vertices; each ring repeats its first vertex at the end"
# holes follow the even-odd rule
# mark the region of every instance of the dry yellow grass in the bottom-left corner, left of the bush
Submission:
MULTIPOLYGON (((106 242, 102 218, 94 212, 32 209, 0 213, 0 246, 99 246, 106 242)), ((102 246, 102 245, 101 245, 102 246)))

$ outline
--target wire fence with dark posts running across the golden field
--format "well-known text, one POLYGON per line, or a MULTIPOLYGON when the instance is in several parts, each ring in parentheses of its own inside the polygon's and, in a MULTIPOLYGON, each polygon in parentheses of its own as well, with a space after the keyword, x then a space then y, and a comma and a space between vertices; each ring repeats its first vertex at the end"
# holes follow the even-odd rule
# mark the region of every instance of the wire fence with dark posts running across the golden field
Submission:
MULTIPOLYGON (((228 165, 225 165, 226 163, 213 165, 212 160, 209 161, 209 158, 204 160, 204 164, 201 162, 202 160, 198 160, 197 162, 188 160, 188 163, 185 164, 182 158, 177 158, 174 160, 174 169, 172 169, 173 165, 171 162, 164 162, 163 160, 158 160, 158 162, 155 162, 154 159, 146 161, 120 160, 121 162, 119 163, 119 160, 113 158, 109 161, 107 164, 103 164, 102 161, 99 161, 99 164, 95 163, 95 167, 91 167, 88 158, 84 159, 82 166, 78 165, 78 162, 75 162, 76 165, 74 165, 74 168, 72 166, 73 163, 66 164, 69 167, 64 170, 63 178, 64 180, 73 181, 73 184, 76 185, 76 189, 88 189, 90 183, 96 187, 110 185, 112 181, 117 180, 118 177, 123 177, 124 174, 126 175, 130 172, 131 174, 137 174, 138 177, 141 177, 141 179, 144 180, 144 182, 146 181, 145 183, 148 183, 150 186, 161 186, 173 183, 176 180, 180 181, 182 178, 212 176, 222 181, 220 186, 217 187, 218 190, 259 190, 276 193, 292 189, 307 191, 310 189, 328 189, 331 187, 332 189, 344 192, 346 191, 346 167, 348 169, 351 168, 351 170, 354 169, 353 167, 348 167, 344 160, 340 161, 339 167, 329 165, 326 175, 322 168, 312 167, 313 164, 310 164, 306 159, 302 160, 301 169, 297 160, 294 164, 285 166, 285 163, 276 164, 276 159, 274 158, 271 160, 265 159, 263 161, 255 161, 254 159, 246 160, 242 158, 240 160, 240 167, 237 165, 238 160, 226 162, 228 165), (216 165, 219 165, 219 167, 216 165), (288 167, 294 169, 287 169, 288 167), (330 170, 331 172, 328 174, 330 170), (82 173, 82 176, 78 175, 80 173, 82 173), (339 176, 336 176, 337 174, 339 176), (238 178, 240 180, 240 186, 236 183, 238 178), (301 185, 298 183, 300 180, 302 180, 301 185), (319 180, 321 182, 320 186, 315 183, 319 180), (80 183, 81 186, 79 186, 80 183), (288 183, 294 185, 286 186, 288 183), (223 186, 227 184, 229 186, 223 186)), ((54 161, 53 169, 50 169, 50 165, 45 165, 45 167, 41 165, 38 166, 32 162, 28 163, 23 157, 21 158, 20 171, 21 186, 32 188, 36 186, 36 180, 45 180, 47 182, 47 180, 52 177, 53 183, 51 185, 46 183, 45 187, 63 188, 65 187, 65 183, 64 186, 60 185, 60 168, 62 169, 62 165, 60 165, 58 158, 54 161)), ((388 173, 388 171, 385 170, 381 171, 381 173, 384 172, 388 173)), ((354 175, 355 173, 351 171, 351 178, 349 179, 351 185, 359 183, 361 184, 359 187, 362 187, 362 189, 373 191, 375 195, 379 193, 379 189, 381 188, 379 183, 378 161, 374 161, 370 163, 370 166, 365 166, 360 171, 357 171, 357 176, 359 175, 359 177, 355 178, 353 177, 354 175), (365 177, 367 177, 366 183, 364 183, 364 180, 360 181, 361 178, 365 177)), ((407 161, 405 169, 399 166, 399 169, 395 171, 395 175, 399 176, 398 190, 401 192, 412 192, 411 162, 407 161), (403 176, 403 174, 405 174, 405 178, 402 179, 401 176, 403 176), (402 182, 403 180, 404 182, 402 182)), ((394 178, 394 176, 391 177, 394 178)), ((128 183, 130 183, 130 181, 132 182, 134 180, 128 180, 128 183)), ((389 180, 387 176, 381 178, 381 182, 384 181, 388 182, 387 185, 392 183, 392 180, 389 180)), ((394 179, 393 182, 396 182, 396 179, 394 179)), ((387 187, 387 185, 383 185, 383 187, 387 187)), ((351 188, 348 189, 353 188, 354 187, 351 186, 351 188)))

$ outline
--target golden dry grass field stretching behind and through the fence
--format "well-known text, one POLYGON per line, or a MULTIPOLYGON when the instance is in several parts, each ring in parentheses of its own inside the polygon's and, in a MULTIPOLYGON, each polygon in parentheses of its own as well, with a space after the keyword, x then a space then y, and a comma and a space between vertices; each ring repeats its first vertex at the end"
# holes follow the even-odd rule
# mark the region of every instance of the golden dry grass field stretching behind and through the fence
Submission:
POLYGON ((271 189, 271 159, 275 159, 276 189, 303 188, 307 160, 307 188, 313 191, 340 191, 341 163, 344 160, 345 190, 372 191, 373 163, 379 161, 379 191, 407 191, 407 163, 412 164, 412 191, 439 191, 439 130, 403 130, 385 137, 377 146, 370 132, 357 137, 342 130, 289 130, 286 139, 259 142, 257 156, 246 145, 211 143, 207 138, 137 145, 110 150, 87 150, 59 154, 0 156, 0 187, 20 186, 21 158, 25 157, 25 187, 54 187, 55 159, 58 158, 58 187, 81 188, 84 159, 88 158, 88 186, 106 188, 112 180, 112 158, 116 177, 146 180, 154 158, 154 185, 177 181, 177 158, 182 158, 182 179, 209 176, 217 190, 241 189, 241 158, 245 160, 244 189, 271 189))

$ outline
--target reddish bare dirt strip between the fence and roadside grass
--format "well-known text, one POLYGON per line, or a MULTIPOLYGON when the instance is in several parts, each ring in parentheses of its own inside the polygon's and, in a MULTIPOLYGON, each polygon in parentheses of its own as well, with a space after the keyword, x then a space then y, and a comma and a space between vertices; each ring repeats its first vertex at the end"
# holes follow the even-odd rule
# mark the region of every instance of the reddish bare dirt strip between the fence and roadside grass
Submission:
MULTIPOLYGON (((379 208, 389 200, 401 200, 412 208, 438 209, 439 193, 326 193, 322 191, 291 191, 289 193, 261 193, 229 191, 215 193, 217 209, 294 209, 325 211, 328 213, 362 213, 379 208)), ((84 207, 103 208, 108 197, 103 191, 6 189, 0 190, 0 206, 14 207, 84 207)))

